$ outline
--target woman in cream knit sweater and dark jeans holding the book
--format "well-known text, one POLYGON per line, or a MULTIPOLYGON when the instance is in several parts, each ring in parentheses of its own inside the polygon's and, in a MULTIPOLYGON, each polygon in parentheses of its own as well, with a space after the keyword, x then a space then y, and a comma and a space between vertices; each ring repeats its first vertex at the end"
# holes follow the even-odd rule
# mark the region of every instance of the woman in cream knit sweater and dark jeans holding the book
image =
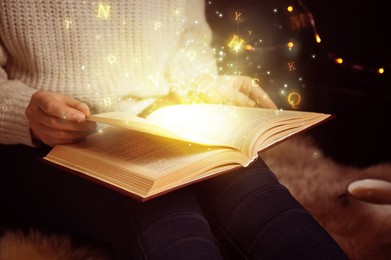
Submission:
POLYGON ((39 160, 95 131, 90 113, 140 114, 170 102, 275 108, 251 79, 217 75, 203 1, 0 5, 9 219, 98 243, 116 259, 346 258, 260 160, 145 203, 39 160))

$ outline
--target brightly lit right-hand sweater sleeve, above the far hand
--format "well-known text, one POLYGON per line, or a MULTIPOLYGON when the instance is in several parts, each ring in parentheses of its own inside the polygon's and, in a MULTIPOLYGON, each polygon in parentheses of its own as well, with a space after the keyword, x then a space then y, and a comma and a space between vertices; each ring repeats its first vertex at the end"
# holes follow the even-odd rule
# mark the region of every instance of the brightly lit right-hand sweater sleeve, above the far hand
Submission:
POLYGON ((211 48, 212 31, 206 21, 205 1, 189 0, 185 27, 176 53, 167 66, 171 91, 184 103, 197 97, 217 77, 216 59, 211 48))

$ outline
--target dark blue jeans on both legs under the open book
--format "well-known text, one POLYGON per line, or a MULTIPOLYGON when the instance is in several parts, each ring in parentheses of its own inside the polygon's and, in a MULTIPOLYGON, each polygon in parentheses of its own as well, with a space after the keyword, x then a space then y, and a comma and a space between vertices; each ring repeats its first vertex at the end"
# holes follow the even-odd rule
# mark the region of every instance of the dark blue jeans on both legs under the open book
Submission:
POLYGON ((2 221, 71 235, 113 259, 347 259, 263 161, 140 203, 0 146, 2 221))

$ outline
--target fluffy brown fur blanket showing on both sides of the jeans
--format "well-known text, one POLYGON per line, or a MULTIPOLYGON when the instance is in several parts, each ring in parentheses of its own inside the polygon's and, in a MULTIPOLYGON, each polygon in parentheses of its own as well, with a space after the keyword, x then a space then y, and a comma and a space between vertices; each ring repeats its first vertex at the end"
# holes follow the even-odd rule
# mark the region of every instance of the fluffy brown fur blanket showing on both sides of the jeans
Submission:
MULTIPOLYGON (((261 156, 352 260, 391 259, 391 205, 370 204, 346 194, 347 185, 357 179, 391 181, 391 164, 368 168, 339 165, 304 136, 283 142, 261 156)), ((0 259, 105 257, 95 249, 73 246, 68 237, 8 231, 0 239, 0 259)))

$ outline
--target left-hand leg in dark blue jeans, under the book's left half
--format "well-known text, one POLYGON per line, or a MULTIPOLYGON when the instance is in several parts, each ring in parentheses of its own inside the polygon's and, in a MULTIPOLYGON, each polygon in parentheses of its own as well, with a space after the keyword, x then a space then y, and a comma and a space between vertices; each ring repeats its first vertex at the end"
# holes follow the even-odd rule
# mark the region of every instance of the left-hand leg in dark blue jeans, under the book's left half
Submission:
POLYGON ((119 259, 153 259, 163 253, 217 259, 208 222, 191 190, 140 203, 43 163, 44 149, 0 148, 0 156, 19 158, 7 161, 1 172, 2 203, 8 206, 8 220, 16 222, 10 224, 107 245, 119 259), (200 250, 194 253, 194 247, 200 250))

